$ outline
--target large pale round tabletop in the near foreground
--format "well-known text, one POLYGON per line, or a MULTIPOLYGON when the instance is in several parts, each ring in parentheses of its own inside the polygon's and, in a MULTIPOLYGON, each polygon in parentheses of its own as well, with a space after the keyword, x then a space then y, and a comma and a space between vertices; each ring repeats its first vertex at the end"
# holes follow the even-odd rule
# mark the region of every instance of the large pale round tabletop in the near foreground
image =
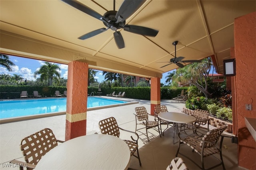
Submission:
POLYGON ((42 169, 128 169, 130 149, 120 138, 93 134, 66 141, 46 153, 36 165, 42 169))

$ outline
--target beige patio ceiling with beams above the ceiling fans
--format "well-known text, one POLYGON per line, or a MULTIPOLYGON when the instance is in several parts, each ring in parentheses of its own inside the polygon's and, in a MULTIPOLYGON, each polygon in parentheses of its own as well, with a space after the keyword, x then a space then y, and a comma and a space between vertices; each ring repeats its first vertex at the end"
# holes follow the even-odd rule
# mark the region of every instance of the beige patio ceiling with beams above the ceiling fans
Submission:
MULTIPOLYGON (((80 0, 99 14, 113 10, 113 0, 80 0)), ((118 10, 123 0, 116 0, 118 10)), ((160 68, 174 56, 184 60, 213 56, 218 73, 234 47, 234 19, 256 11, 255 0, 146 0, 126 24, 159 30, 147 37, 120 29, 125 48, 118 49, 112 30, 86 40, 78 37, 105 27, 61 0, 0 0, 0 52, 69 63, 144 77, 161 77, 177 68, 160 68), (72 57, 70 57, 72 56, 72 57)), ((188 63, 186 63, 188 64, 188 63)))

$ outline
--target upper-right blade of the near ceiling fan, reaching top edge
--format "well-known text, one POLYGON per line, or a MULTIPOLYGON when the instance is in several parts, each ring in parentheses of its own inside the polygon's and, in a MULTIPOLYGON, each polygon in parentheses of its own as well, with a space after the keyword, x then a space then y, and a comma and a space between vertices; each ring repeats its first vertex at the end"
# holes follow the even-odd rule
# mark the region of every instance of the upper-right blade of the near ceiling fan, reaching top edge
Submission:
POLYGON ((124 0, 116 13, 116 23, 126 20, 142 6, 146 0, 124 0))

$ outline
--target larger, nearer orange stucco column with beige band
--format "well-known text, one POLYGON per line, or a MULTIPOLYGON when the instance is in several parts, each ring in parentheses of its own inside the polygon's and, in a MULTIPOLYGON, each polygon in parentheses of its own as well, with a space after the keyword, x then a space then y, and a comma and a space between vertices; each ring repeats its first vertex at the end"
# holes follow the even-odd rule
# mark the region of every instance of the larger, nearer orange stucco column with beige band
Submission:
POLYGON ((88 64, 68 64, 67 112, 65 140, 86 135, 88 64))

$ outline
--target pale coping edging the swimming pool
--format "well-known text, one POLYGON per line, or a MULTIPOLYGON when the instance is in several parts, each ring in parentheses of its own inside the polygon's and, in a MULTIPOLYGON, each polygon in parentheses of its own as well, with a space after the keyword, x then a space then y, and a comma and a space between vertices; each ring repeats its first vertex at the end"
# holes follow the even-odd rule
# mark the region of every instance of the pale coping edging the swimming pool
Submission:
MULTIPOLYGON (((94 96, 94 97, 99 97, 99 96, 94 96)), ((104 96, 100 96, 100 97, 104 98, 104 96)), ((111 98, 108 98, 108 99, 111 99, 111 98)), ((112 98, 112 99, 114 99, 114 98, 112 98)), ((115 100, 117 100, 117 99, 115 99, 115 100)), ((120 100, 120 99, 118 99, 118 100, 120 100)), ((126 101, 128 103, 112 104, 112 105, 108 105, 108 106, 99 106, 99 107, 90 107, 90 108, 87 109, 87 111, 105 109, 105 108, 110 108, 110 107, 125 106, 125 105, 138 104, 139 103, 139 102, 134 102, 134 101, 129 101, 129 100, 122 100, 122 101, 126 101)), ((44 117, 52 117, 52 116, 65 115, 65 114, 66 114, 66 111, 59 111, 59 112, 43 113, 43 114, 37 114, 37 115, 3 118, 3 119, 0 119, 0 124, 12 123, 12 122, 17 122, 17 121, 26 121, 26 120, 31 120, 31 119, 40 119, 40 118, 44 118, 44 117)))

